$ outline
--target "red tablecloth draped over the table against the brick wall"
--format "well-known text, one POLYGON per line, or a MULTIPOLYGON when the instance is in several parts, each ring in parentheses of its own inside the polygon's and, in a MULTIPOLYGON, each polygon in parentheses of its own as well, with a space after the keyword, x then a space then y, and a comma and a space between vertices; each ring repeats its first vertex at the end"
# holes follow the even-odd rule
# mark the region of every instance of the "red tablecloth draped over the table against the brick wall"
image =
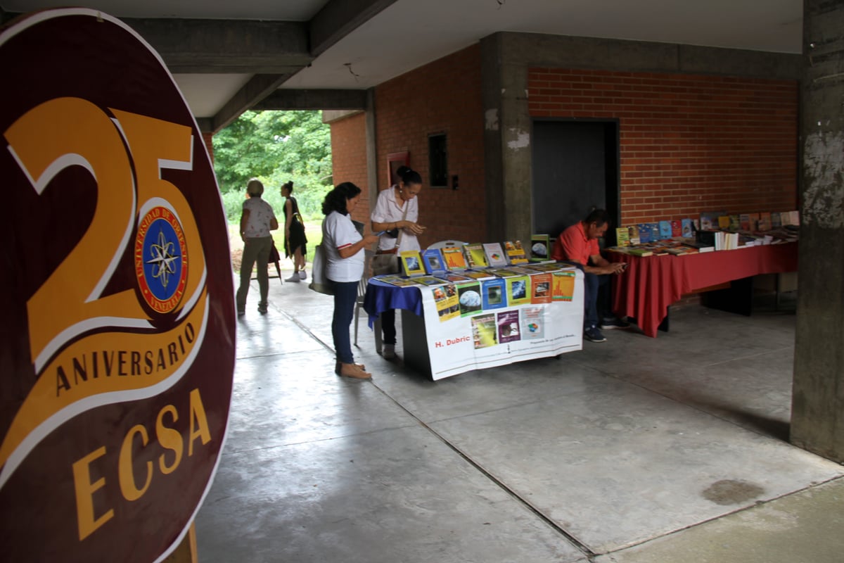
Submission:
POLYGON ((668 306, 682 295, 760 273, 797 271, 797 243, 644 258, 610 252, 609 259, 630 264, 613 279, 614 313, 635 317, 644 333, 656 337, 668 306))

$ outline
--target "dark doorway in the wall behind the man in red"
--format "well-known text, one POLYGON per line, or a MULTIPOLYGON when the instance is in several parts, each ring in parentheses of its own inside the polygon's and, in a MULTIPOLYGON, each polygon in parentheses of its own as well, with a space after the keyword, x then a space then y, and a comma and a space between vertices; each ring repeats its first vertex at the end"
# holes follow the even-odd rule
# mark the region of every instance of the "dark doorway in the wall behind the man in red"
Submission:
MULTIPOLYGON (((619 224, 619 123, 533 122, 533 232, 551 235, 586 217, 592 206, 619 224)), ((606 244, 614 245, 614 230, 606 244)))

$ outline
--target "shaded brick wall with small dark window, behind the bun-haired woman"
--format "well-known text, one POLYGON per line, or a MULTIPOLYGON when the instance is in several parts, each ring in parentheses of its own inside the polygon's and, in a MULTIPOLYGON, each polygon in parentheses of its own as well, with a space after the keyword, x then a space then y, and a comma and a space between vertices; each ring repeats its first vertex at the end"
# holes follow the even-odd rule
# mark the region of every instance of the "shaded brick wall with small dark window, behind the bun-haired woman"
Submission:
POLYGON ((387 154, 409 151, 422 176, 419 237, 423 248, 445 239, 484 241, 484 111, 480 46, 430 62, 376 88, 378 187, 387 186, 387 154), (428 135, 446 133, 449 187, 431 188, 428 135), (459 176, 457 190, 452 176, 459 176))

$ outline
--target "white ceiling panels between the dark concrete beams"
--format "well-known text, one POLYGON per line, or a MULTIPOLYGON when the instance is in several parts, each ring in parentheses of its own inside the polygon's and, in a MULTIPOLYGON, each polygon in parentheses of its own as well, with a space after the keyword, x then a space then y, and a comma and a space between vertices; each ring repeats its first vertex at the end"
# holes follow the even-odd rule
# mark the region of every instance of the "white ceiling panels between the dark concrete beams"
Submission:
MULTIPOLYGON (((118 18, 307 21, 327 2, 75 3, 118 18)), ((49 0, 0 0, 0 5, 9 12, 27 12, 55 4, 49 0)), ((799 53, 802 27, 803 0, 398 0, 323 52, 310 68, 303 68, 281 88, 369 88, 472 45, 495 31, 799 53)), ((207 117, 219 111, 249 78, 244 74, 178 74, 176 82, 194 115, 207 117)))

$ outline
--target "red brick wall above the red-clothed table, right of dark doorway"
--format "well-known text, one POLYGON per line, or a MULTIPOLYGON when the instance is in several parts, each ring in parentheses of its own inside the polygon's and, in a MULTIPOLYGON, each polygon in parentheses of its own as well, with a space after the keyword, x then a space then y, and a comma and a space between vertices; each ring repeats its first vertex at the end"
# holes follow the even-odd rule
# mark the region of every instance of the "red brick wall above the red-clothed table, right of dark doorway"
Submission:
POLYGON ((621 223, 798 208, 798 83, 531 68, 532 117, 619 119, 621 223))

